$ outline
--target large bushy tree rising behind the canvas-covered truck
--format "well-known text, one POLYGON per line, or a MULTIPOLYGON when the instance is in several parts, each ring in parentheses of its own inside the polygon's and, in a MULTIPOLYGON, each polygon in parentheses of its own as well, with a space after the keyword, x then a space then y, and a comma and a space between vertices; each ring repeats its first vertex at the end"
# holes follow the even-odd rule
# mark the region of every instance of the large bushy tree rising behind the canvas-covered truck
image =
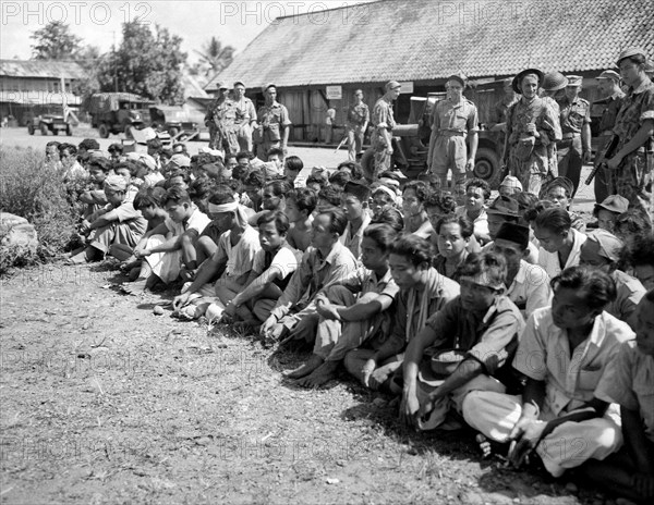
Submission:
POLYGON ((122 42, 99 64, 101 91, 129 91, 166 103, 183 101, 182 69, 186 53, 182 38, 167 28, 136 21, 124 23, 122 42))

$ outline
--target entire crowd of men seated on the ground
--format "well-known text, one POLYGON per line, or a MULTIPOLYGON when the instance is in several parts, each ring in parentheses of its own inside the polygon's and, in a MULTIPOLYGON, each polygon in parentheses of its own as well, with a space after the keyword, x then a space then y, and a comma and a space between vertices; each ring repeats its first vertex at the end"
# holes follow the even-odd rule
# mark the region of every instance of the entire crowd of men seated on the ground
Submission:
POLYGON ((654 497, 654 237, 620 196, 586 231, 565 177, 532 195, 507 176, 491 199, 476 178, 371 184, 353 161, 299 176, 302 160, 276 149, 119 147, 75 170, 74 146, 48 153, 86 184, 69 261, 111 256, 128 293, 178 282, 178 318, 307 344, 288 373, 300 385, 342 364, 398 395, 417 430, 465 423, 517 466, 531 455, 555 477, 654 497))

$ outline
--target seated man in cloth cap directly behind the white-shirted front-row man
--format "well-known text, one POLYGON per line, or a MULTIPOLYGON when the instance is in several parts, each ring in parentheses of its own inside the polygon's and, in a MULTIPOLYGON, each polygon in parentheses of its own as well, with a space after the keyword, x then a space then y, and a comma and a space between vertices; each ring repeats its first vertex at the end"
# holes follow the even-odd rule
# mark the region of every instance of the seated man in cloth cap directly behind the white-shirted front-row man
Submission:
POLYGON ((618 270, 622 242, 603 229, 593 230, 586 236, 586 242, 581 246, 579 264, 598 268, 610 275, 616 283, 616 298, 605 310, 635 330, 635 307, 644 296, 645 288, 638 279, 618 270))

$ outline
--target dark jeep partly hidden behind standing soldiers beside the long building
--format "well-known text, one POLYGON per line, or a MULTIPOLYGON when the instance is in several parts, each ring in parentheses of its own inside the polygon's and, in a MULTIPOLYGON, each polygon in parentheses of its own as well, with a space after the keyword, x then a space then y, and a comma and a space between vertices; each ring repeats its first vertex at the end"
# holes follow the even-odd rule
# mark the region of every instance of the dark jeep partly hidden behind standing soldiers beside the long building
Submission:
MULTIPOLYGON (((427 171, 427 151, 432 135, 429 119, 436 102, 445 97, 445 93, 411 97, 409 123, 398 124, 392 131, 391 165, 409 178, 416 178, 427 171)), ((502 134, 484 130, 482 125, 477 138, 474 176, 487 181, 491 187, 496 189, 501 173, 502 134)), ((367 165, 372 161, 372 151, 368 149, 361 163, 367 165)))

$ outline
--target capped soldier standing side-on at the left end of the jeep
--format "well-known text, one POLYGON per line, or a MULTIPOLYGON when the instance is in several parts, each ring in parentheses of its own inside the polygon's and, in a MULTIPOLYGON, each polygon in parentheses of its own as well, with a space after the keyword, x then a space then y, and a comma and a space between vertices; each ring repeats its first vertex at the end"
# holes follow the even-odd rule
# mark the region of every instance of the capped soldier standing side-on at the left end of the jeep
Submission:
POLYGON ((376 181, 382 172, 391 169, 392 157, 392 128, 396 122, 392 115, 392 102, 400 96, 400 83, 389 81, 384 88, 386 93, 373 107, 371 121, 375 128, 371 136, 371 149, 373 150, 373 174, 376 181))

